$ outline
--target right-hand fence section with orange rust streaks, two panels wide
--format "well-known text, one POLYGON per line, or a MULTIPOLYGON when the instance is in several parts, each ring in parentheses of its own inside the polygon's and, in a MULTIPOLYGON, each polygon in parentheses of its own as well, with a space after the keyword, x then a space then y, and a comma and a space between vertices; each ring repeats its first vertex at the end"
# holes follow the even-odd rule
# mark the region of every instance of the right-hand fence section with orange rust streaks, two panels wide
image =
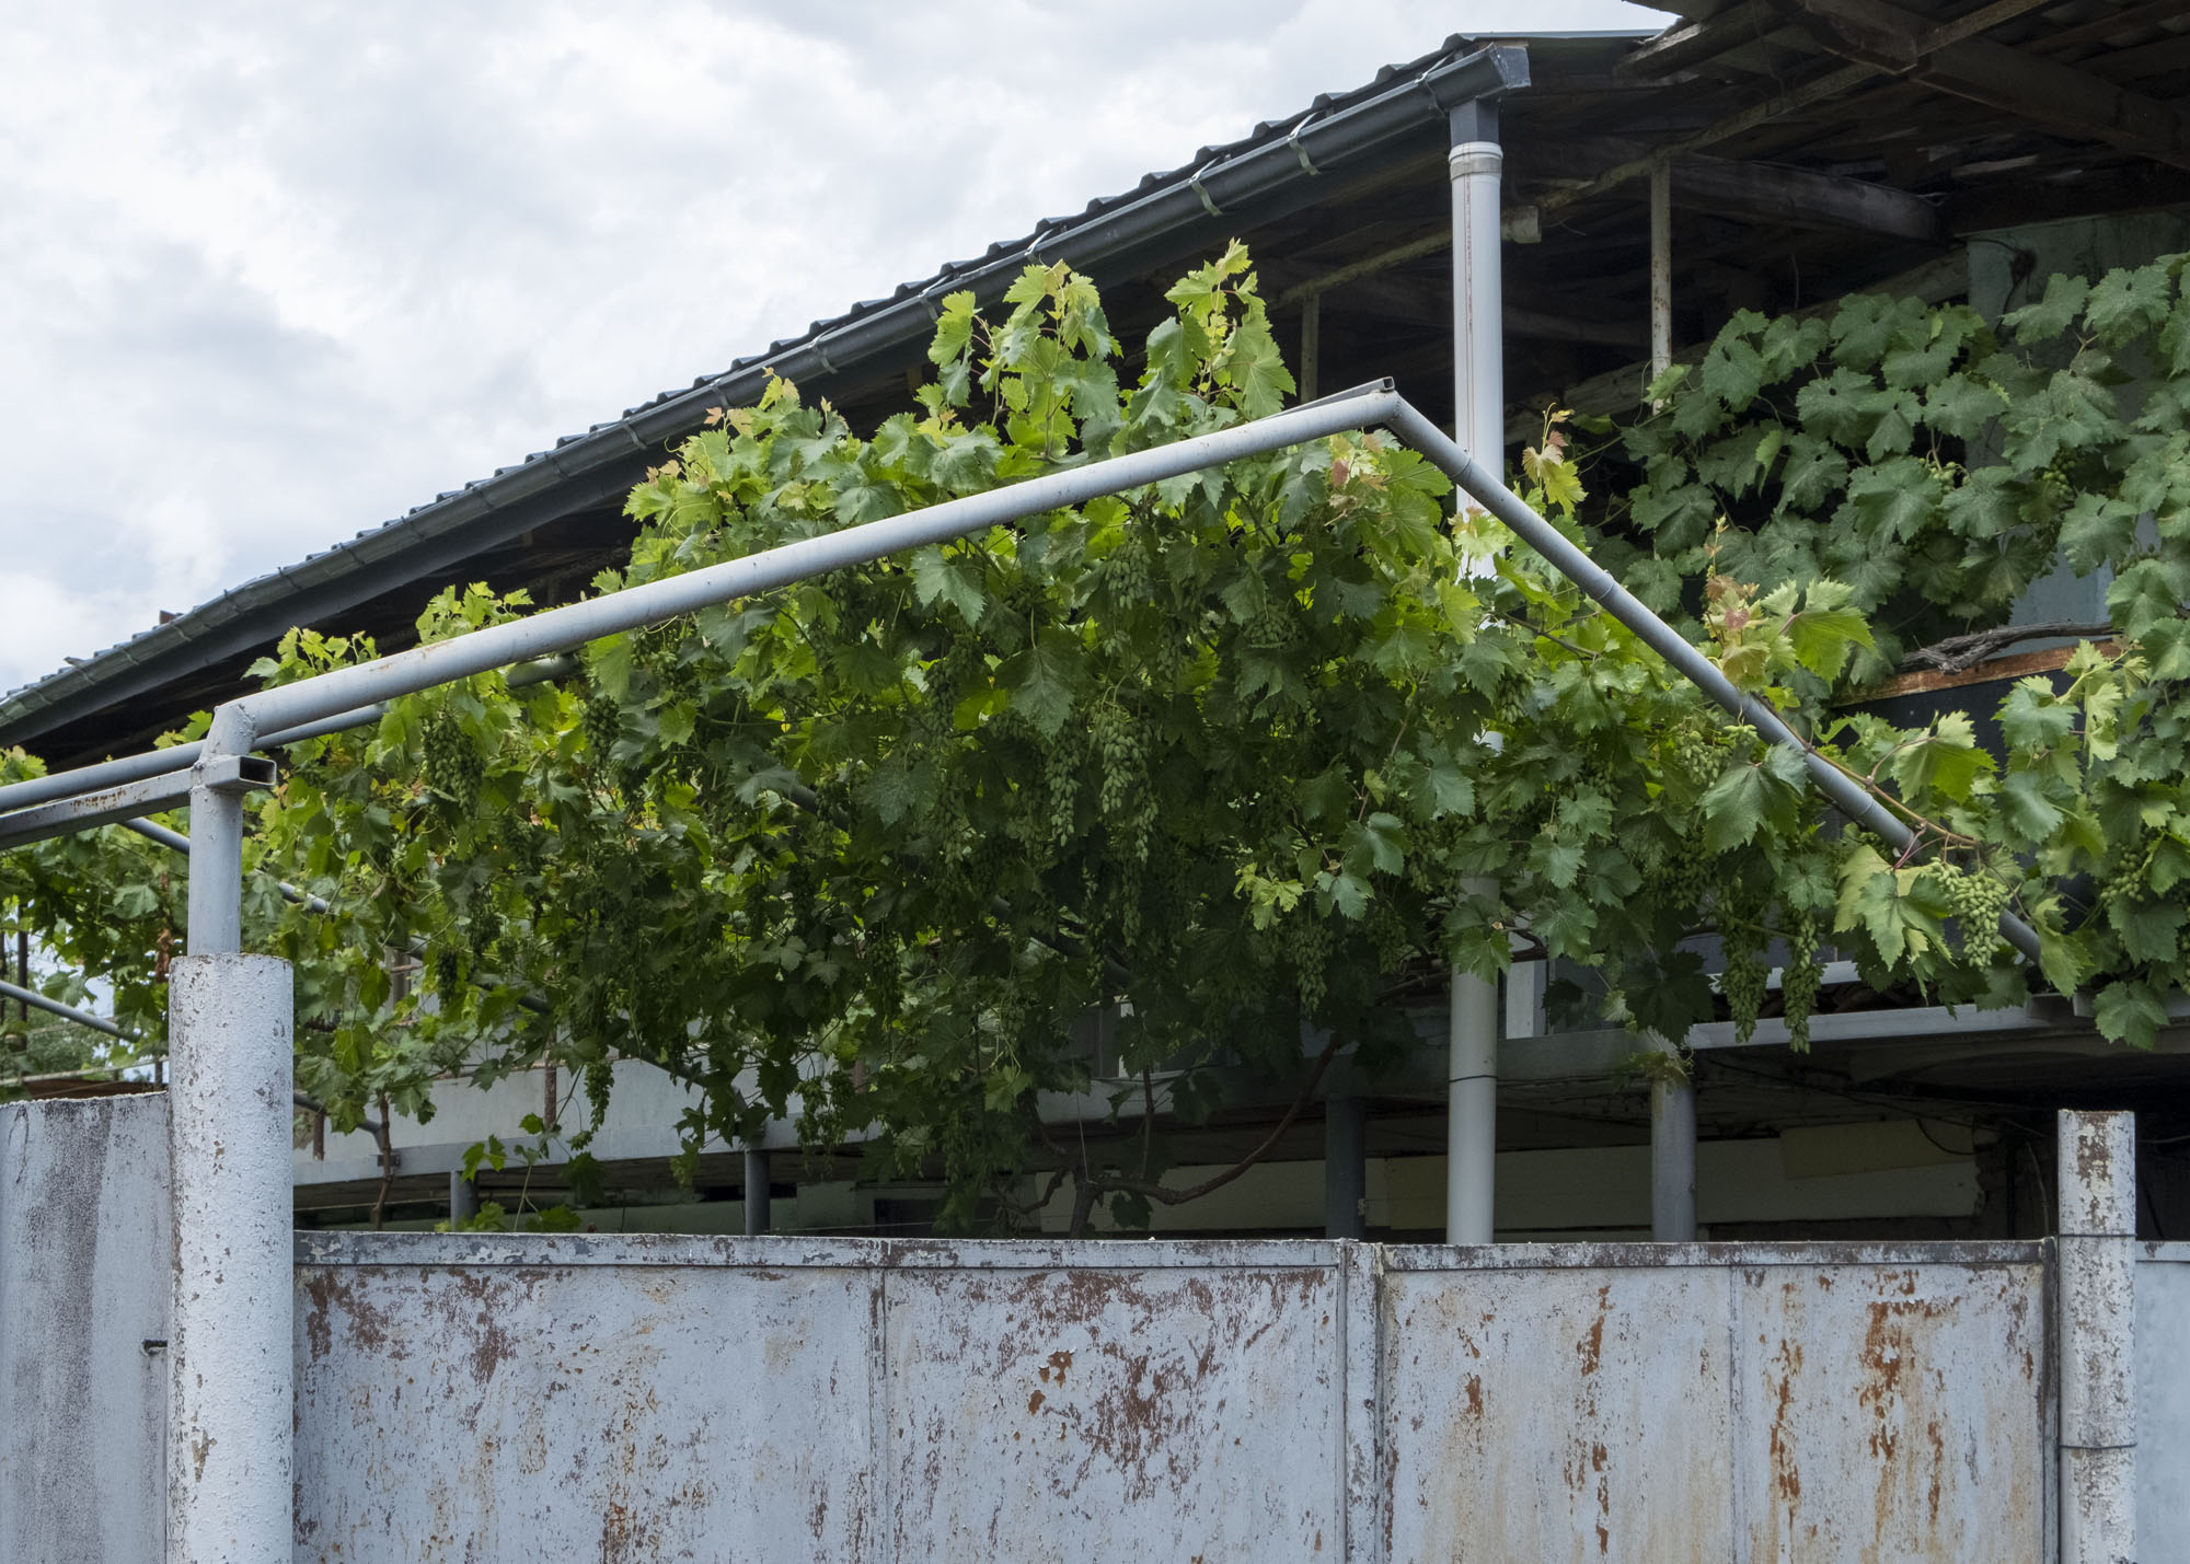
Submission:
POLYGON ((2043 1557, 2037 1244, 1395 1249, 1388 1555, 2043 1557))

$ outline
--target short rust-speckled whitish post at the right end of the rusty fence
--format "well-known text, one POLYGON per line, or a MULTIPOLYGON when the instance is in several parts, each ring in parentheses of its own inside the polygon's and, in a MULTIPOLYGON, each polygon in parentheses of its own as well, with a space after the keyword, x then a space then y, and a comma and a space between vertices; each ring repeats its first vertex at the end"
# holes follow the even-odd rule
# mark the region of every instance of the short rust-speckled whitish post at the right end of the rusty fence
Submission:
POLYGON ((2059 1117, 2061 1564, 2137 1555, 2137 1119, 2059 1117))

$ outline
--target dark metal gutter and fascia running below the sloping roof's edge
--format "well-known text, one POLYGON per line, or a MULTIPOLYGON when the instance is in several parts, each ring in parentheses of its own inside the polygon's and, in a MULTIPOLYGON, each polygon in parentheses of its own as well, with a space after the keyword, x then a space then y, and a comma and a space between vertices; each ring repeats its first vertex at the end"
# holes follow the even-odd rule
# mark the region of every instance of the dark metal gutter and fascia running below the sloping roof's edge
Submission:
POLYGON ((707 407, 756 401, 771 372, 828 381, 852 366, 911 353, 926 340, 940 298, 970 289, 992 302, 1029 261, 1064 261, 1084 272, 1130 274, 1196 237, 1226 237, 1318 199, 1316 180, 1373 164, 1393 142, 1434 131, 1452 107, 1529 85, 1520 44, 1448 39, 1439 55, 1340 99, 1318 99, 1290 120, 1204 149, 1196 162, 1150 175, 1141 188, 1082 215, 1040 223, 1023 241, 992 245, 981 261, 944 267, 887 302, 854 307, 799 340, 740 359, 519 467, 440 495, 407 517, 243 583, 188 613, 0 701, 0 747, 81 721, 120 701, 265 646, 293 624, 403 587, 434 570, 508 543, 572 510, 602 504, 635 482, 653 451, 701 427, 707 407))

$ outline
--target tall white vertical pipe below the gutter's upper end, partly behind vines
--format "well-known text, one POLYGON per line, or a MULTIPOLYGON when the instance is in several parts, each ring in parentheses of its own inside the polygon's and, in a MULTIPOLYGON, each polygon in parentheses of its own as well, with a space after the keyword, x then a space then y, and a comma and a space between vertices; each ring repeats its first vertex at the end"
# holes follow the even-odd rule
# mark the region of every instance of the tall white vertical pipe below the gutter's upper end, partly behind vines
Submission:
MULTIPOLYGON (((1461 447, 1505 471, 1505 289, 1500 283, 1498 103, 1452 110, 1452 423, 1461 447)), ((1467 881, 1469 896, 1498 894, 1467 881)), ((1445 1242, 1491 1242, 1498 1165, 1498 986, 1450 970, 1445 1054, 1445 1242)))

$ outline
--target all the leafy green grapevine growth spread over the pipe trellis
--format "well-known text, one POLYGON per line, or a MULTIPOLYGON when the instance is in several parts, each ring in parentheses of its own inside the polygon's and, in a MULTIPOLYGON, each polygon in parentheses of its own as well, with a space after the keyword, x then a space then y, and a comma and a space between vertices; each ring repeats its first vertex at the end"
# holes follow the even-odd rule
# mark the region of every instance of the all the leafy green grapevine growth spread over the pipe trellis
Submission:
MULTIPOLYGON (((1842 832, 1800 754, 1730 727, 1419 458, 1340 436, 291 747, 252 806, 245 916, 296 962, 300 1082, 348 1128, 381 1095, 429 1113, 436 1076, 552 1060, 587 1080, 583 1150, 611 1060, 650 1060, 696 1089, 692 1154, 771 1115, 823 1146, 867 1130, 876 1172, 944 1178, 944 1220, 972 1224, 1023 1218, 1016 1176, 1042 1159, 1121 1220, 1176 1198, 1156 1139, 1108 1163, 1045 1146, 1040 1093, 1154 1093, 1161 1071, 1191 1119, 1226 1069, 1299 1078, 1303 1038, 1375 1069, 1448 964, 1496 973, 1515 948, 1597 968, 1612 1016, 1675 1043, 1721 1003, 1748 1032, 1778 959, 1800 1040, 1826 933, 1879 988, 2019 999, 2028 977, 1984 927, 2015 905, 2045 933, 2043 979, 2094 981, 2109 1034, 2148 1040, 2190 878, 2172 699, 2190 399, 2166 370, 2124 423, 2113 355, 2166 366, 2190 340, 2172 265, 2157 276, 2048 291, 2017 329, 2080 322, 2059 366, 1960 309, 1741 315, 1599 458, 1638 482, 1597 508, 1561 418, 1526 451, 1529 502, 1594 530, 1737 686, 1901 810, 1918 852, 1842 832), (1833 708, 1907 637, 1997 620, 2061 545, 2118 572, 2131 644, 2080 653, 2065 690, 2019 686, 2006 764, 1967 714, 1901 732, 1833 708), (2067 876, 2098 887, 2091 907, 2067 876), (1695 948, 1710 933, 1717 986, 1695 948), (1097 1010, 1119 1016, 1104 1082, 1069 1043, 1097 1010)), ((1067 267, 1029 267, 1001 322, 953 296, 918 412, 869 438, 771 383, 631 493, 631 561, 596 587, 1281 405, 1242 250, 1167 298, 1128 359, 1067 267)), ((451 589, 420 631, 526 607, 451 589)), ((370 655, 300 631, 256 672, 370 655)), ((0 859, 0 894, 155 1030, 177 870, 103 832, 0 859)))

